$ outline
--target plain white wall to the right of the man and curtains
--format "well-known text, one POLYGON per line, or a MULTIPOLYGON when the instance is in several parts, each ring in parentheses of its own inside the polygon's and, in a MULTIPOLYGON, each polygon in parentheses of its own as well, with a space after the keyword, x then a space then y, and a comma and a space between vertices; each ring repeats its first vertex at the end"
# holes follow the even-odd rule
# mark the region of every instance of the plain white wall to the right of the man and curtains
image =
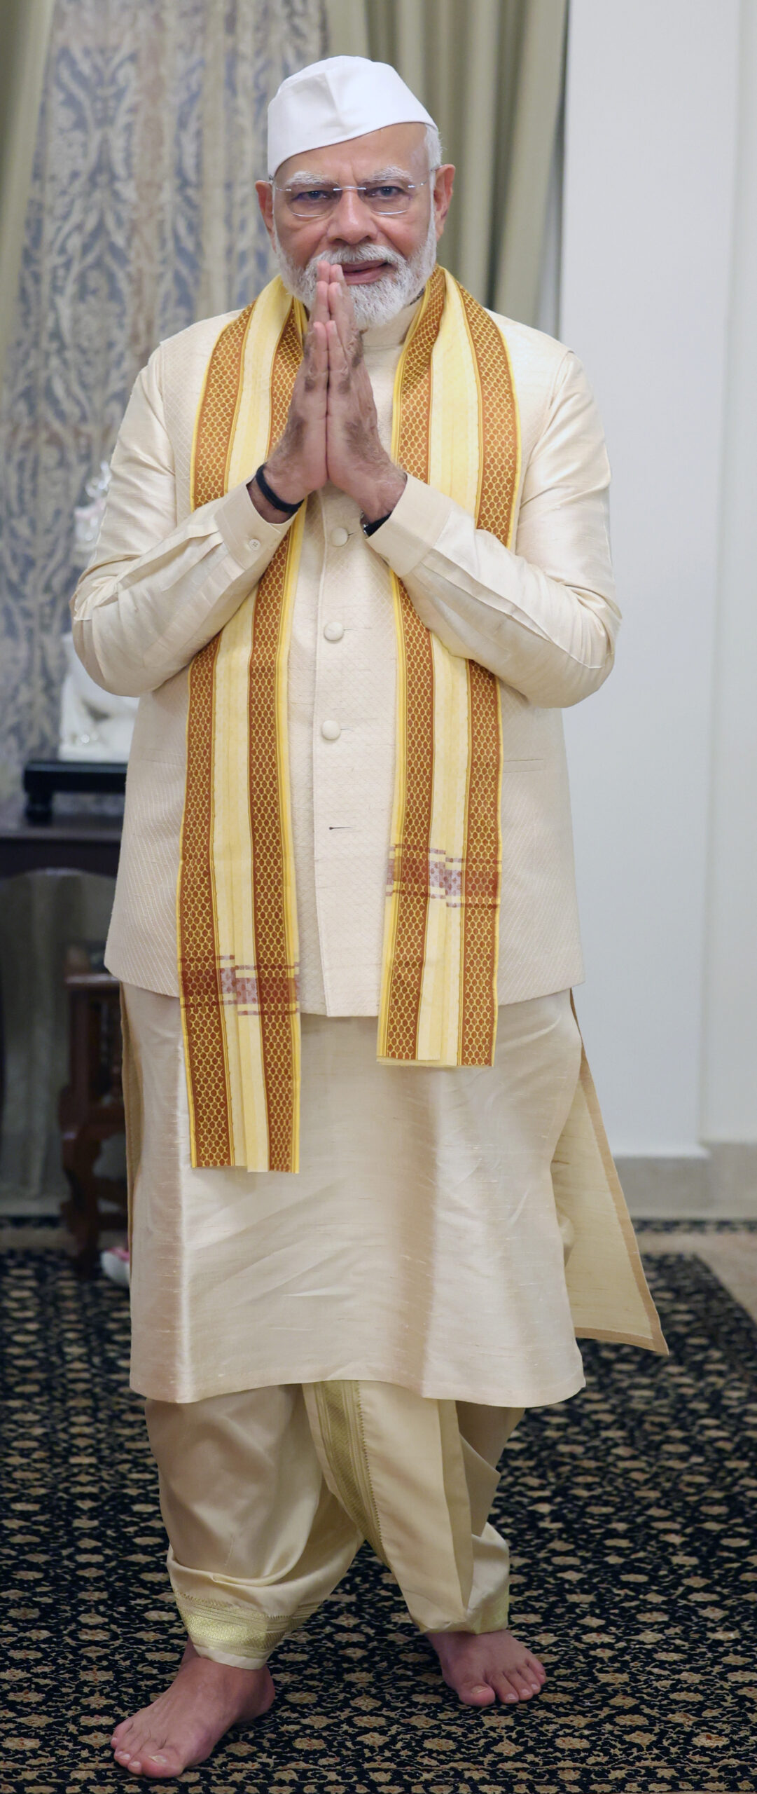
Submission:
MULTIPOLYGON (((752 45, 755 0, 744 13, 752 45)), ((622 1155, 757 1139, 757 65, 741 29, 739 0, 570 4, 560 334, 605 416, 624 612, 612 680, 567 716, 578 1008, 622 1155)))

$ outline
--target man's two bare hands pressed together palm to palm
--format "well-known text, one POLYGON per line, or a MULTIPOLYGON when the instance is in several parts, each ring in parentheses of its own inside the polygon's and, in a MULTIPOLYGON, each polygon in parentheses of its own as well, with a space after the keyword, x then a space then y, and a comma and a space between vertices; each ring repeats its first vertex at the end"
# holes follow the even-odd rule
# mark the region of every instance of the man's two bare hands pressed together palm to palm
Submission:
MULTIPOLYGON (((395 509, 405 477, 378 440, 362 337, 343 269, 323 260, 289 416, 265 461, 265 481, 276 497, 298 504, 330 479, 375 522, 395 509)), ((249 490, 260 515, 280 524, 282 511, 267 502, 257 481, 249 490)))

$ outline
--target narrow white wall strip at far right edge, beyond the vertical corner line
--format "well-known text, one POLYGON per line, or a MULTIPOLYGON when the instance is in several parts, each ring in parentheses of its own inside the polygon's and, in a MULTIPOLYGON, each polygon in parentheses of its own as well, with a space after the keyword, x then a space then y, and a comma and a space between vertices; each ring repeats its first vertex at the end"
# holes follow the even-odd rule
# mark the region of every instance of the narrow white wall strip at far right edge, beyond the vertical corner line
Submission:
POLYGON ((743 0, 716 603, 701 1127, 757 1141, 757 5, 743 0))

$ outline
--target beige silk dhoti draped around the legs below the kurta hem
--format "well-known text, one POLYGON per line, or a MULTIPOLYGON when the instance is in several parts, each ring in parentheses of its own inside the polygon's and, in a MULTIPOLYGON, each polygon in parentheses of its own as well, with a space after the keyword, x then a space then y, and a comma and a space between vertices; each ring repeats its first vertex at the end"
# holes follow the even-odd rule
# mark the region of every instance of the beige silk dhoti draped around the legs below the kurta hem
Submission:
POLYGON ((508 1624, 509 1554, 486 1516, 520 1410, 335 1381, 147 1401, 145 1415, 170 1582, 201 1656, 265 1663, 364 1537, 422 1631, 508 1624))

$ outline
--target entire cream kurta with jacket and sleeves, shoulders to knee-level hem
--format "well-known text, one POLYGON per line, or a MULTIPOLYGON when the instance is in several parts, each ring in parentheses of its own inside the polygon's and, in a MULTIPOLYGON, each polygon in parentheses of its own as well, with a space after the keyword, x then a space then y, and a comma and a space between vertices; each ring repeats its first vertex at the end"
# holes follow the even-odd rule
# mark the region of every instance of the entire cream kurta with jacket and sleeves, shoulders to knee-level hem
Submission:
MULTIPOLYGON (((366 339, 386 443, 411 316, 366 339)), ((560 705, 603 684, 617 628, 601 423, 570 350, 508 321, 517 553, 416 479, 370 540, 343 493, 310 497, 289 658, 301 1171, 192 1171, 176 1001, 187 667, 285 533, 246 486, 190 515, 196 407, 222 323, 161 344, 140 375, 74 599, 93 678, 142 696, 108 942, 135 1073, 135 1387, 196 1401, 368 1378, 472 1403, 556 1401, 581 1383, 574 1329, 662 1346, 585 1062, 576 1089, 567 994, 583 971, 560 705), (375 1023, 361 1019, 378 1012, 393 797, 386 562, 445 646, 500 680, 495 1067, 378 1066, 375 1023), (574 1240, 567 1286, 554 1197, 574 1240)))

